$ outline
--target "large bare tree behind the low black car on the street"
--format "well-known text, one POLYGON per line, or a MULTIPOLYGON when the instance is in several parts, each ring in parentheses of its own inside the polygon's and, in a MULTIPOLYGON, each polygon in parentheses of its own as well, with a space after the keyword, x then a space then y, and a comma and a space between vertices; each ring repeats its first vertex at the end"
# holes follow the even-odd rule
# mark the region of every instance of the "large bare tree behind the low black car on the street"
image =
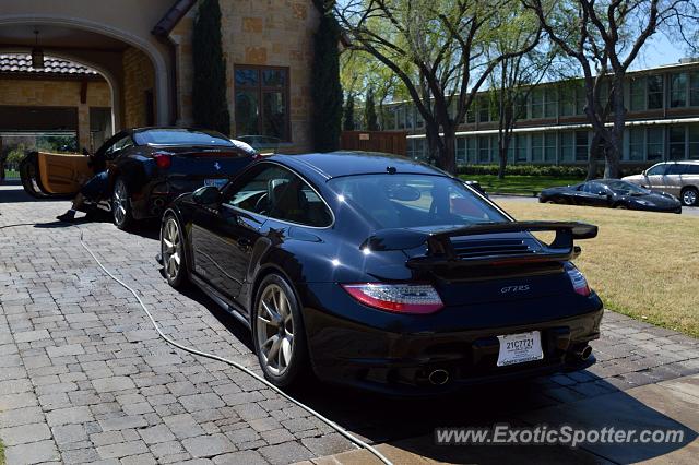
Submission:
POLYGON ((602 152, 604 176, 619 175, 626 106, 624 86, 629 67, 659 28, 696 27, 696 0, 521 0, 534 11, 547 36, 581 67, 585 115, 594 131, 591 167, 602 152), (603 86, 607 81, 608 85, 603 86), (607 95, 601 95, 603 87, 607 95), (607 120, 612 126, 607 127, 607 120))

